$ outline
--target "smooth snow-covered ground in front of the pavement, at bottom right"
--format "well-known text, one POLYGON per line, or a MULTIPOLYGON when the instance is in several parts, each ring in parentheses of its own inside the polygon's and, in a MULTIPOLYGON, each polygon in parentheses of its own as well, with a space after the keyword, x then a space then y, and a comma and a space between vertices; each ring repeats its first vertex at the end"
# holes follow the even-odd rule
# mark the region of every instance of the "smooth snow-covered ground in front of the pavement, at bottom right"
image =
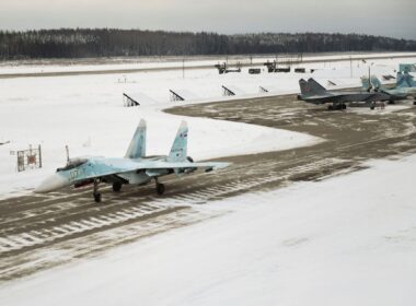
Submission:
POLYGON ((369 166, 211 203, 231 212, 9 283, 0 305, 414 305, 416 156, 369 166))

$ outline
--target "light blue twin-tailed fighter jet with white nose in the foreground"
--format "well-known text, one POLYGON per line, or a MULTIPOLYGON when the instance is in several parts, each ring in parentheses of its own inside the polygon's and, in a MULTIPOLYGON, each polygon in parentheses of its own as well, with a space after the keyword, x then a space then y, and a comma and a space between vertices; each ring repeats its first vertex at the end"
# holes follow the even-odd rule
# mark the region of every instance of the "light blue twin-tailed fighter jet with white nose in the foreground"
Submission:
POLYGON ((229 165, 217 162, 194 163, 193 158, 187 156, 187 137, 188 128, 183 121, 169 156, 146 156, 146 121, 140 120, 124 157, 69 160, 65 167, 58 168, 51 177, 45 179, 35 192, 44 193, 68 186, 78 188, 91 184, 95 202, 101 202, 100 183, 113 184, 113 190, 118 192, 125 184, 145 185, 154 179, 158 195, 163 195, 164 185, 158 180, 161 176, 190 174, 198 168, 210 172, 229 165))

